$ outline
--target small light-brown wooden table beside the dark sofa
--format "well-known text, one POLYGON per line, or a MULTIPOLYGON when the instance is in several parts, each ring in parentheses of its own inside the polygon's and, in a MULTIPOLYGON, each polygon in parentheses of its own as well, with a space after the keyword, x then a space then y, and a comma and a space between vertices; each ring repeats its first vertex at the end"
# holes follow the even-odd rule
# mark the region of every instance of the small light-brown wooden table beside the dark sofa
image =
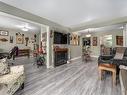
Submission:
POLYGON ((113 83, 116 84, 116 65, 114 65, 114 64, 100 64, 98 66, 98 70, 99 70, 101 80, 102 80, 103 71, 112 72, 112 80, 113 80, 113 83))

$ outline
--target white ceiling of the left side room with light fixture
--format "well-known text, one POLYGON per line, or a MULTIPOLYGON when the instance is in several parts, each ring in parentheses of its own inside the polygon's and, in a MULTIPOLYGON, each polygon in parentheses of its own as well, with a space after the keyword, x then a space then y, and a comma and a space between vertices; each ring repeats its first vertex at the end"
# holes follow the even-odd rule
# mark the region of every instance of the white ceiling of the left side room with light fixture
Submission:
POLYGON ((41 29, 39 25, 15 18, 11 15, 4 14, 1 12, 0 12, 0 27, 5 29, 19 30, 19 31, 22 31, 22 29, 26 27, 28 28, 29 31, 25 31, 25 32, 29 32, 29 33, 31 32, 38 33, 40 32, 41 29))

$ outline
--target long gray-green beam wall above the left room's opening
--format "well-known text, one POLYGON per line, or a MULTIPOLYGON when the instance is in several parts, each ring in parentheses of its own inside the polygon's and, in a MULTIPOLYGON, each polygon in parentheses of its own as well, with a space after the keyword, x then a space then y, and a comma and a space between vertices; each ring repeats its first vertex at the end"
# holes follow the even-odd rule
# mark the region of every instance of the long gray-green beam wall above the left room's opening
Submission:
POLYGON ((64 27, 60 24, 57 24, 57 23, 52 22, 50 20, 47 20, 43 17, 31 14, 31 13, 26 12, 24 10, 21 10, 19 8, 10 6, 10 5, 8 5, 6 3, 3 3, 1 1, 0 1, 0 11, 4 12, 4 13, 7 13, 7 14, 10 14, 10 15, 13 15, 13 16, 16 16, 16 17, 20 17, 20 18, 27 19, 27 20, 30 20, 30 21, 33 21, 33 22, 44 24, 44 25, 47 25, 49 27, 54 27, 54 28, 61 29, 61 30, 64 30, 64 31, 69 30, 69 28, 64 27))

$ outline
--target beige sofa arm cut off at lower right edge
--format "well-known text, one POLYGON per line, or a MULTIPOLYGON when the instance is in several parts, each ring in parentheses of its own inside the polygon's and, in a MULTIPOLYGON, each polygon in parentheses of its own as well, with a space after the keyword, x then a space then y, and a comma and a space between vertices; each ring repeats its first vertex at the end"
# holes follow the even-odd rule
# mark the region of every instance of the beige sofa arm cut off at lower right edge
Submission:
POLYGON ((121 84, 121 94, 127 95, 127 66, 120 66, 120 84, 121 84))

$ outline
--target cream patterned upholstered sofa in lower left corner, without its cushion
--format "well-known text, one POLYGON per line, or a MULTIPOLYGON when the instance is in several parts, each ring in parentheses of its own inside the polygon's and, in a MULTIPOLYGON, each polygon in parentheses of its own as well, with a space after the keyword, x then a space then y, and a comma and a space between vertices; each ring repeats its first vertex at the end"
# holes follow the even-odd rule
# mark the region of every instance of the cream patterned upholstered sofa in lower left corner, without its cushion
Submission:
POLYGON ((0 95, 13 95, 24 87, 24 66, 10 67, 10 73, 0 76, 0 95))

